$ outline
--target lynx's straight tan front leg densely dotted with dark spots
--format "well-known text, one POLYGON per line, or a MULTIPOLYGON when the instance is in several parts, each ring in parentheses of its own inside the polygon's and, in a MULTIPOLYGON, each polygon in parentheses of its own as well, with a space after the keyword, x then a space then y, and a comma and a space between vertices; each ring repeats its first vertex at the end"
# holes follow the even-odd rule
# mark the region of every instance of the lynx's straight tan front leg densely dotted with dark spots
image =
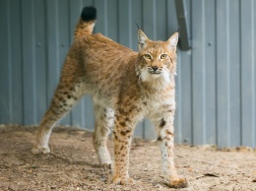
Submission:
MULTIPOLYGON (((125 116, 122 116, 122 118, 125 116)), ((114 138, 114 165, 113 182, 115 184, 126 184, 129 181, 129 153, 132 141, 133 126, 128 117, 120 119, 119 115, 115 117, 114 138)))

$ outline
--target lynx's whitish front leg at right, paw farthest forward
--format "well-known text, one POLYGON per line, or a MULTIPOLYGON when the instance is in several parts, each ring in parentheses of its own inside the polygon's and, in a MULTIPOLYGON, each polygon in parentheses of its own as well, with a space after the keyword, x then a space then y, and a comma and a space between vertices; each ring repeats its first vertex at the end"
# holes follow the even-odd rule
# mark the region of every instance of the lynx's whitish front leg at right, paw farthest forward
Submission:
POLYGON ((160 144, 160 152, 162 159, 162 170, 164 180, 168 186, 172 188, 184 188, 188 186, 187 180, 178 177, 174 165, 174 127, 173 116, 169 113, 168 116, 162 117, 157 125, 158 141, 160 144))

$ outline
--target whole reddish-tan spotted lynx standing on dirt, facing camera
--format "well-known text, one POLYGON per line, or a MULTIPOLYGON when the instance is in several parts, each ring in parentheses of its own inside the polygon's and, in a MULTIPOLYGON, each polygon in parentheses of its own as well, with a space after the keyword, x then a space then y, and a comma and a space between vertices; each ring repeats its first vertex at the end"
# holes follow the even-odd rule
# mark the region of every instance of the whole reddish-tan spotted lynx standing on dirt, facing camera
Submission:
POLYGON ((166 41, 150 40, 138 31, 139 52, 100 33, 93 34, 96 8, 85 7, 76 27, 74 43, 63 65, 60 82, 39 125, 34 155, 50 152, 54 124, 85 94, 93 96, 96 127, 94 147, 99 163, 112 163, 106 148, 113 127, 112 181, 126 184, 129 150, 136 124, 149 117, 158 134, 164 180, 170 187, 186 187, 173 159, 175 70, 178 32, 166 41))

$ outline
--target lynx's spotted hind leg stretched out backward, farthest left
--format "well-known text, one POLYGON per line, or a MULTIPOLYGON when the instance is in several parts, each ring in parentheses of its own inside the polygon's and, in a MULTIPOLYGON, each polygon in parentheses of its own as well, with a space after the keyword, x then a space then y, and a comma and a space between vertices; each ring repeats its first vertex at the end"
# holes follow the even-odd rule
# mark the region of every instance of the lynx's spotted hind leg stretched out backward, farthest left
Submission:
POLYGON ((47 154, 50 152, 48 141, 54 125, 74 106, 82 96, 81 84, 59 84, 51 100, 49 109, 44 114, 39 125, 32 154, 47 154))

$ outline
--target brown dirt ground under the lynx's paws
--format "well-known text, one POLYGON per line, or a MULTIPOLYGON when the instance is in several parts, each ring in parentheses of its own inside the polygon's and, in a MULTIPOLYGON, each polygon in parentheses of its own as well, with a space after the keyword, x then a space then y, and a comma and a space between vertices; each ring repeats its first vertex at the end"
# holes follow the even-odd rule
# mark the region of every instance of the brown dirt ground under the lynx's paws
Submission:
MULTIPOLYGON (((51 154, 31 154, 36 128, 0 125, 0 190, 175 190, 162 181, 160 149, 135 139, 130 155, 134 184, 110 182, 110 171, 98 166, 92 133, 68 127, 54 129, 51 154)), ((109 141, 109 151, 113 146, 109 141)), ((256 155, 252 149, 218 151, 215 147, 175 147, 175 163, 189 188, 181 190, 256 190, 256 155)))

